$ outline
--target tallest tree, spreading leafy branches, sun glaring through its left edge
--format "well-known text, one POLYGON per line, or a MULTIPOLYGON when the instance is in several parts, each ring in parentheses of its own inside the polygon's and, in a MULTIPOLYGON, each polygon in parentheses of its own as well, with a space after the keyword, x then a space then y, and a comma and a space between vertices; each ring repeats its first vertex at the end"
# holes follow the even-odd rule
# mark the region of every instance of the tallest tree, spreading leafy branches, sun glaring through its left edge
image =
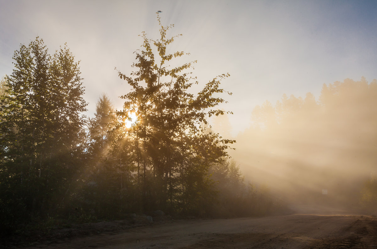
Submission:
MULTIPOLYGON (((120 78, 133 87, 122 96, 126 102, 117 115, 125 120, 136 112, 138 117, 128 135, 135 140, 133 148, 139 155, 134 163, 141 167, 144 210, 151 205, 176 209, 184 202, 182 193, 190 188, 190 181, 184 179, 189 179, 190 174, 196 175, 197 181, 190 184, 207 184, 204 179, 209 165, 226 156, 228 144, 234 142, 220 139, 213 132, 201 133, 201 123, 207 124, 206 117, 231 113, 212 109, 224 102, 213 94, 228 93, 219 85, 229 74, 215 77, 196 96, 189 93, 189 88, 198 84, 196 77, 188 72, 196 61, 174 68, 168 65, 173 58, 189 54, 167 53, 167 47, 180 35, 166 38, 173 25, 162 26, 156 14, 161 38, 149 39, 143 32, 143 50, 135 52, 138 62, 132 65, 137 71, 132 71, 130 76, 118 71, 120 78)), ((200 194, 197 188, 195 191, 196 195, 200 194)))

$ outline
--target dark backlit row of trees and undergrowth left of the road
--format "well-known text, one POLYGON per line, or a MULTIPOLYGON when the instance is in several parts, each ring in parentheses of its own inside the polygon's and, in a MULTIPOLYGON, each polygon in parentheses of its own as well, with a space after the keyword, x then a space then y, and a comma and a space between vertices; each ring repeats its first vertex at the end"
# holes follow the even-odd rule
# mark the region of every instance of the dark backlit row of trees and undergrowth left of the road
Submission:
POLYGON ((46 219, 88 222, 128 213, 237 216, 272 210, 268 191, 246 185, 228 150, 235 141, 211 130, 222 115, 219 75, 197 94, 190 68, 170 67, 178 36, 142 33, 123 109, 106 94, 87 118, 79 62, 65 44, 53 55, 43 39, 21 45, 0 85, 0 219, 9 234, 46 219), (224 187, 227 186, 227 187, 224 187), (259 203, 258 205, 256 203, 259 203), (239 206, 235 207, 234 203, 239 206), (241 207, 242 206, 242 207, 241 207))

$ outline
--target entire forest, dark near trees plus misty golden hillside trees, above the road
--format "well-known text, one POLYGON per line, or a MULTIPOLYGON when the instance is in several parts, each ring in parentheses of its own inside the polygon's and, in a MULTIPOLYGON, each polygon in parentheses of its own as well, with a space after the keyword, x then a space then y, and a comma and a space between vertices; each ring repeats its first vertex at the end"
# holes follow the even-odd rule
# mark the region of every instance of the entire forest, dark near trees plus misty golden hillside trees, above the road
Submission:
POLYGON ((37 37, 15 51, 0 83, 2 236, 157 210, 263 216, 308 199, 374 212, 376 80, 324 84, 318 101, 311 93, 266 100, 231 138, 211 126, 232 114, 218 108, 231 95, 221 88, 230 74, 198 82, 196 61, 175 61, 189 53, 167 53, 180 35, 158 23, 159 39, 140 35, 132 71, 115 68, 132 87, 120 92, 123 108, 104 93, 93 117, 67 44, 50 54, 37 37))

